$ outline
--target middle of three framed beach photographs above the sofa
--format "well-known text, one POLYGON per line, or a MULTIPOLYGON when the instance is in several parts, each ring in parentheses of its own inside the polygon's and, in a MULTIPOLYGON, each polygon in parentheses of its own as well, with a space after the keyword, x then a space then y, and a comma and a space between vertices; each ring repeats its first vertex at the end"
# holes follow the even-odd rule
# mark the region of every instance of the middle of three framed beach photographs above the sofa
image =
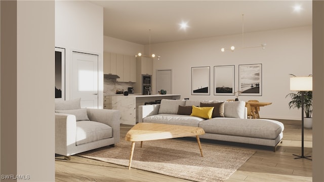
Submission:
POLYGON ((214 66, 214 95, 233 96, 235 87, 235 66, 214 66))

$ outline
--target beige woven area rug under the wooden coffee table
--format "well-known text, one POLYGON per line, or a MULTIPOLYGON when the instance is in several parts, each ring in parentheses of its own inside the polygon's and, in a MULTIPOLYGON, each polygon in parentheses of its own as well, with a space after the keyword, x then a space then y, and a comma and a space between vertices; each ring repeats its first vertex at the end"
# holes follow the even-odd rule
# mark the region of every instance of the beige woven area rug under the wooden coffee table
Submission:
MULTIPOLYGON (((243 165, 255 151, 239 150, 178 139, 136 142, 132 168, 192 181, 225 181, 243 165)), ((115 147, 105 147, 78 156, 127 166, 131 142, 120 139, 115 147)), ((126 167, 126 169, 127 169, 126 167)), ((131 169, 132 170, 132 169, 131 169)))

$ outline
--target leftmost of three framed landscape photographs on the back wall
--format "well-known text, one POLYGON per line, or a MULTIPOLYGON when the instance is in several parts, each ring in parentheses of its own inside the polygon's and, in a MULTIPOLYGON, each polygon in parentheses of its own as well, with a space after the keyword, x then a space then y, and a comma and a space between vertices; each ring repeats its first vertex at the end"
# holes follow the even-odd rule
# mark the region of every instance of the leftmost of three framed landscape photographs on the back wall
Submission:
POLYGON ((210 66, 191 68, 191 95, 210 95, 210 66))

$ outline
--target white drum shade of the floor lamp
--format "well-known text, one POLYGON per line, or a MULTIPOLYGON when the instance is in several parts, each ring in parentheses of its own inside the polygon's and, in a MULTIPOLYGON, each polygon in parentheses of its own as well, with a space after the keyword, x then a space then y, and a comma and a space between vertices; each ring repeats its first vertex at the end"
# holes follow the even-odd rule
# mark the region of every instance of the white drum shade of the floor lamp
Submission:
POLYGON ((311 91, 313 90, 313 77, 291 77, 290 90, 295 91, 311 91))

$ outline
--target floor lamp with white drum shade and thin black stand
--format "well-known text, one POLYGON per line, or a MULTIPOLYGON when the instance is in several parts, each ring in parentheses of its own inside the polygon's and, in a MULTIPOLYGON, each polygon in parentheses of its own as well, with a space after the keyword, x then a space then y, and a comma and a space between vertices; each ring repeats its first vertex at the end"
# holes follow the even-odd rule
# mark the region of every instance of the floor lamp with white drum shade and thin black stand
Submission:
MULTIPOLYGON (((290 89, 295 91, 301 91, 302 94, 302 155, 295 155, 295 159, 301 159, 311 156, 304 156, 304 92, 311 91, 313 89, 313 79, 311 76, 307 77, 291 77, 290 78, 290 89)), ((308 159, 312 160, 312 159, 308 159)))

